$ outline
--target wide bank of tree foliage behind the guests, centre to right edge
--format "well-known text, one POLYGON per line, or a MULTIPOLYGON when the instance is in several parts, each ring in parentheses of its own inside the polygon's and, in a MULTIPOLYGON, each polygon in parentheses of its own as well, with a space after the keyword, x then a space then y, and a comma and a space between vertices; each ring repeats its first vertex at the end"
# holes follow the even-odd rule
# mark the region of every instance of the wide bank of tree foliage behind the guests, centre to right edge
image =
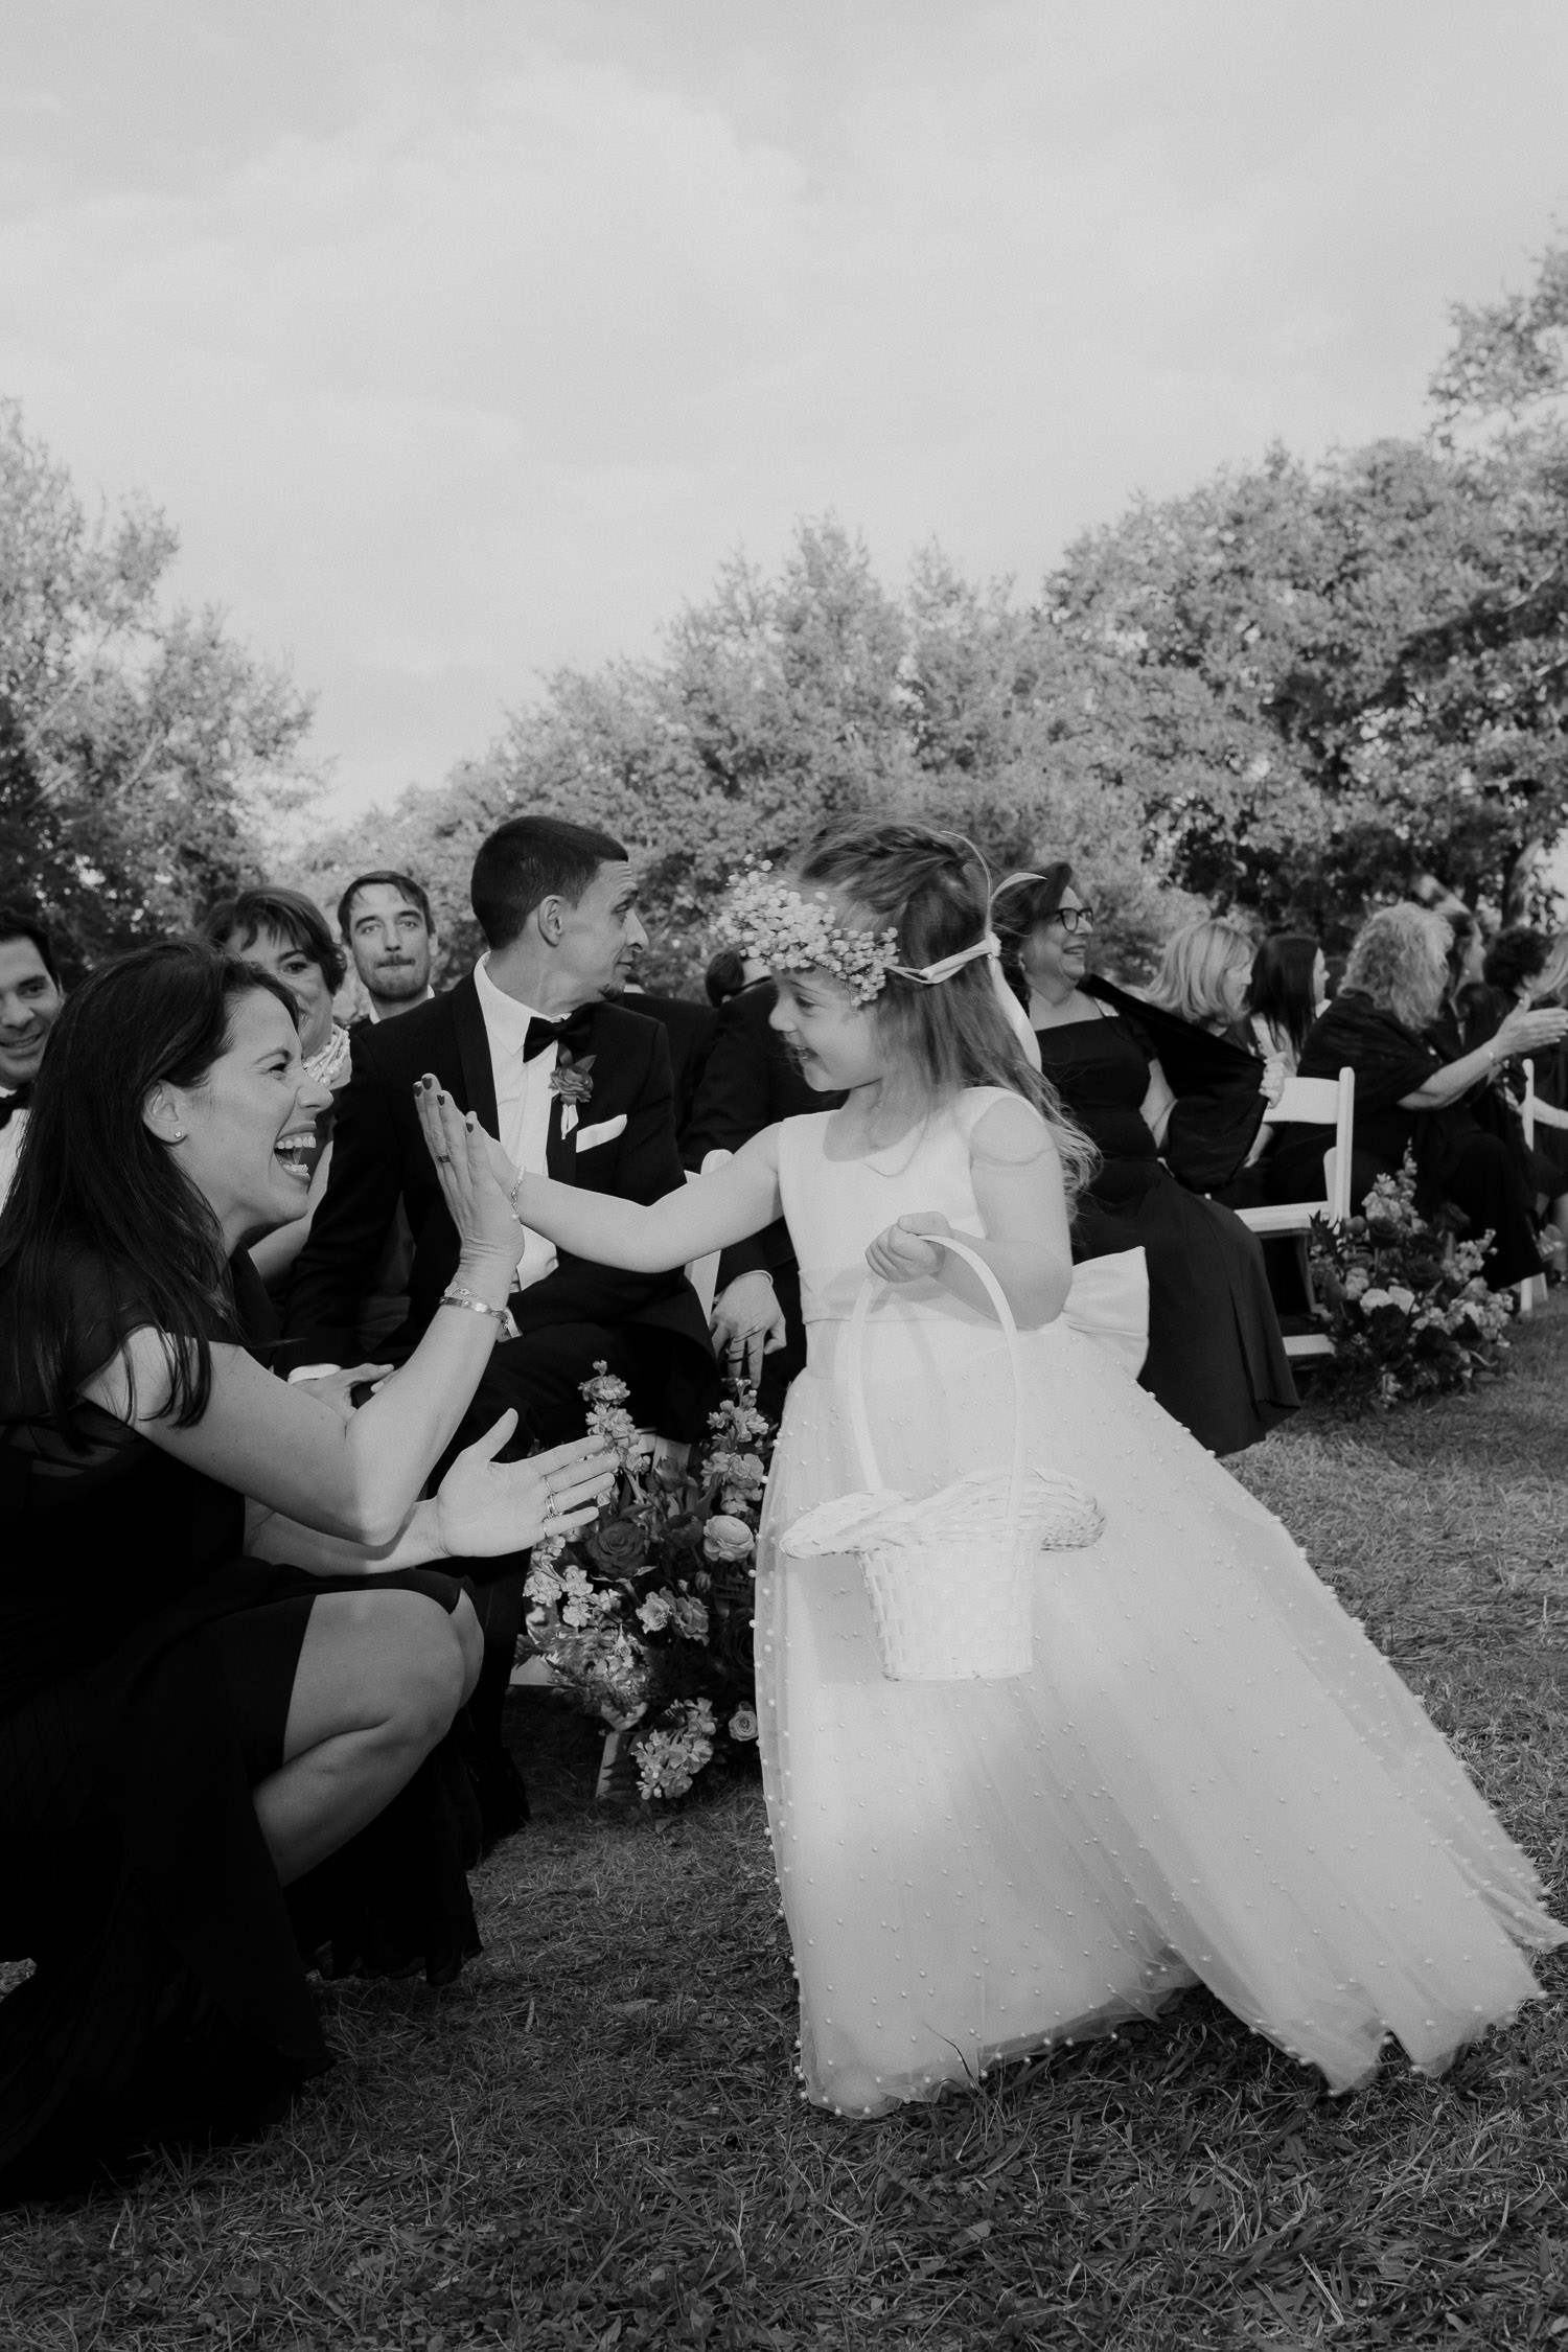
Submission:
MULTIPOLYGON (((691 983, 712 896, 830 816, 917 811, 997 873, 1070 856, 1128 976, 1197 908, 1340 946, 1439 875, 1544 913, 1568 821, 1568 247, 1455 310, 1427 440, 1274 449, 1088 532, 1034 602, 940 550, 903 595, 837 522, 733 560, 661 659, 562 670, 435 790, 317 844, 393 856, 475 948, 468 868, 512 809, 649 858, 651 974, 691 983)), ((0 757, 5 748, 0 743, 0 757)))

